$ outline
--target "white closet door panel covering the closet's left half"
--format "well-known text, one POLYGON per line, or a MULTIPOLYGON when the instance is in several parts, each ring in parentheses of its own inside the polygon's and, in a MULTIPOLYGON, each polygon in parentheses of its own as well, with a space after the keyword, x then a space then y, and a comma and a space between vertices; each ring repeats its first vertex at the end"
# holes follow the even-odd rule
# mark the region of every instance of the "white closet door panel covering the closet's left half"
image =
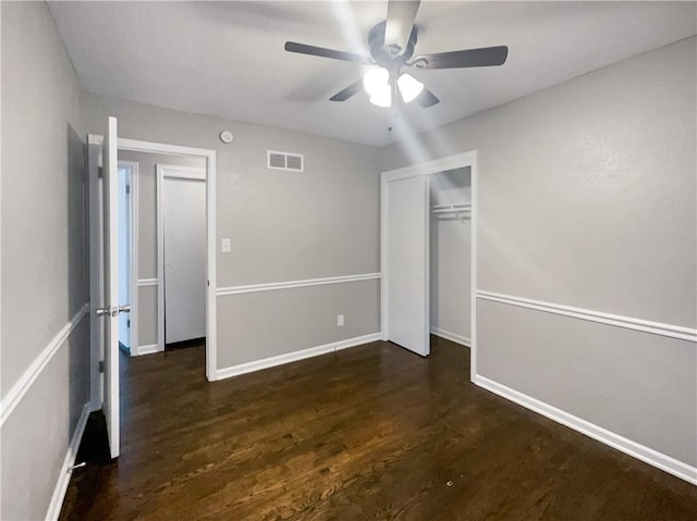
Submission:
POLYGON ((383 260, 387 339, 418 355, 430 352, 428 317, 428 182, 386 178, 383 260))

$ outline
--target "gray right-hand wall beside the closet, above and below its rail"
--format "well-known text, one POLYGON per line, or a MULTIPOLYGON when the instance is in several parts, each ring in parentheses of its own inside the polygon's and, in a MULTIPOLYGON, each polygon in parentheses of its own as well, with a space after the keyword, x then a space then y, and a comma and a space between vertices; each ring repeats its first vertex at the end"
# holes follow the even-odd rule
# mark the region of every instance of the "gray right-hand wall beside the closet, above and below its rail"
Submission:
MULTIPOLYGON (((478 289, 695 327, 695 63, 693 37, 420 136, 478 150, 478 289)), ((697 464, 693 343, 477 309, 481 375, 697 464)))

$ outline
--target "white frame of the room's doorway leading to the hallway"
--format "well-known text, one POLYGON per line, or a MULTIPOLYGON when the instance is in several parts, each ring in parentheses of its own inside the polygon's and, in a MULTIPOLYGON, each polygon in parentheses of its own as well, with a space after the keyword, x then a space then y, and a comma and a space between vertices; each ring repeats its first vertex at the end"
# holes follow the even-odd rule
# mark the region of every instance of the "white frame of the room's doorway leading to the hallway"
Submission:
MULTIPOLYGON (((103 136, 99 134, 87 135, 87 165, 89 175, 89 298, 91 306, 101 301, 103 269, 100 251, 100 227, 103 213, 99 202, 101 181, 99 178, 99 165, 101 161, 101 144, 103 136), (94 181, 97 181, 96 183, 94 181)), ((206 160, 206 377, 212 382, 218 380, 217 371, 217 311, 216 311, 216 150, 207 148, 183 147, 156 141, 119 138, 119 151, 160 153, 167 156, 193 156, 206 160)), ((103 356, 103 346, 100 343, 102 334, 102 321, 90 321, 90 401, 97 410, 101 407, 103 388, 102 375, 99 372, 99 362, 103 356)), ((133 325, 133 322, 131 322, 133 325)))

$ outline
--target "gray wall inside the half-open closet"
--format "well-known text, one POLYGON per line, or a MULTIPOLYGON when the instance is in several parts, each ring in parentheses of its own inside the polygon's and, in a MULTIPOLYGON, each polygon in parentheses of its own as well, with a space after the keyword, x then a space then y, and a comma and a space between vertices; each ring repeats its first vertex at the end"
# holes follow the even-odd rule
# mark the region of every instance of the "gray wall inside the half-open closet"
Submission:
MULTIPOLYGON (((431 204, 472 201, 469 169, 430 176, 431 204)), ((431 332, 469 344, 472 221, 457 213, 430 215, 431 332)))

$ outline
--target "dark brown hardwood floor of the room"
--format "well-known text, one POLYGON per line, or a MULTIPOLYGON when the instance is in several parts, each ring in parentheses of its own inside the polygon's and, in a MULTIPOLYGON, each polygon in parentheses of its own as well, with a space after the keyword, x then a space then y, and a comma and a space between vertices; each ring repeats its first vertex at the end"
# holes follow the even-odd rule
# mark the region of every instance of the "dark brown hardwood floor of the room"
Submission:
POLYGON ((697 487, 474 386, 447 340, 211 384, 204 358, 122 357, 121 457, 90 418, 61 520, 697 519, 697 487))

